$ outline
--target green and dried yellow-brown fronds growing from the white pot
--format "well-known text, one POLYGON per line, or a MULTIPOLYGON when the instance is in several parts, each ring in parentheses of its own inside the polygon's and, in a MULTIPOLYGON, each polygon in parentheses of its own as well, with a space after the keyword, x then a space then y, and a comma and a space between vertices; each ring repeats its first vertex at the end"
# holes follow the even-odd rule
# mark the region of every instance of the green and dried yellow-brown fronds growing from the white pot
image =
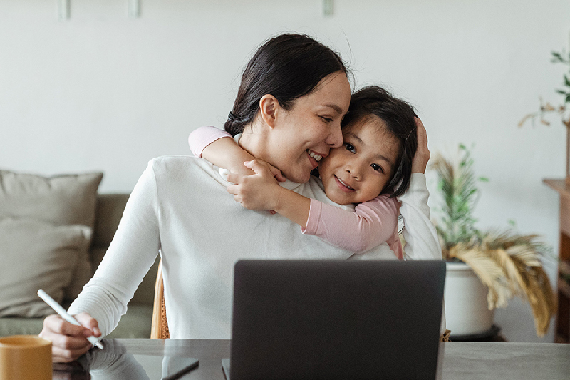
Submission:
POLYGON ((435 155, 430 168, 437 173, 442 195, 440 220, 435 225, 444 257, 473 269, 488 289, 489 310, 505 307, 514 296, 526 299, 537 335, 544 336, 556 314, 556 297, 540 260, 549 248, 537 235, 520 235, 509 228, 477 230, 473 217, 479 196, 477 183, 488 180, 475 176, 465 145, 459 145, 455 160, 435 155))

